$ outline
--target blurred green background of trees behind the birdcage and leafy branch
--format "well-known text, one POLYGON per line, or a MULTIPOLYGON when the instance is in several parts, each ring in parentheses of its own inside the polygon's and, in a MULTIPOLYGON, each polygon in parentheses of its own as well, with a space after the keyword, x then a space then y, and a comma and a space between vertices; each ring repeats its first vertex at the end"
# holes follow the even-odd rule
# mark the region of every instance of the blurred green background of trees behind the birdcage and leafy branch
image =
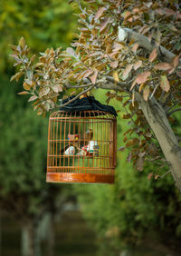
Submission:
MULTIPOLYGON (((118 152, 114 185, 45 182, 48 117, 33 112, 14 74, 8 44, 24 36, 33 53, 63 48, 77 32, 78 10, 63 0, 0 2, 0 255, 181 255, 181 196, 171 176, 155 181, 118 152)), ((105 103, 106 91, 93 94, 105 103)), ((127 122, 117 110, 118 147, 127 122)), ((179 117, 177 117, 179 119, 179 117)), ((181 132, 178 124, 175 129, 181 132)))

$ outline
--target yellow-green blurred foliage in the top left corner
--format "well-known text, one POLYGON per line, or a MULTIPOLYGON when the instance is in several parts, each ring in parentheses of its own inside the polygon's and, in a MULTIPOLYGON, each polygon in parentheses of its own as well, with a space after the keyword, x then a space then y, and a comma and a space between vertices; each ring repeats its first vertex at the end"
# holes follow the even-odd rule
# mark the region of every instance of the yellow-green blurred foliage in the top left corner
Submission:
POLYGON ((0 72, 11 68, 7 44, 15 44, 22 35, 33 49, 42 52, 47 47, 66 47, 77 26, 72 7, 63 0, 1 1, 0 5, 0 72))

